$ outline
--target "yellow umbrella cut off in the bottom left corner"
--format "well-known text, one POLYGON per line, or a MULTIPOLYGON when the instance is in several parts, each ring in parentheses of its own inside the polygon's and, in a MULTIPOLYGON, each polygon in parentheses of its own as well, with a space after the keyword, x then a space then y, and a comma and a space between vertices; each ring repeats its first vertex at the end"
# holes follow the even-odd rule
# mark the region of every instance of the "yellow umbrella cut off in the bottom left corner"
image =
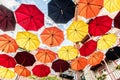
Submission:
POLYGON ((0 68, 0 78, 11 79, 15 77, 15 73, 8 68, 0 68))

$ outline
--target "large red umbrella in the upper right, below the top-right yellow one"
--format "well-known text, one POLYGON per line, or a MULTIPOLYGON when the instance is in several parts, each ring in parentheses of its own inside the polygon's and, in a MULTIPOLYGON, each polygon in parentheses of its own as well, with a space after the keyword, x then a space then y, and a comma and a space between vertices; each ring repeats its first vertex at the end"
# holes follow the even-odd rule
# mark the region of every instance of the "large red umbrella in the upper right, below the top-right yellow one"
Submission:
POLYGON ((104 35, 111 29, 112 19, 106 16, 96 17, 89 23, 89 33, 93 36, 104 35))

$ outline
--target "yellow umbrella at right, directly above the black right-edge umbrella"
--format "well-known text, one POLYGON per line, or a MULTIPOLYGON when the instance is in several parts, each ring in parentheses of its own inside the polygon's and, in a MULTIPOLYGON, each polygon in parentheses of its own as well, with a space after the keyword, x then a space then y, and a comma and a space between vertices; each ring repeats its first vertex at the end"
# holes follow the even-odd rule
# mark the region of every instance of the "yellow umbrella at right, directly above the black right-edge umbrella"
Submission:
POLYGON ((112 47, 117 40, 117 36, 115 34, 107 34, 104 35, 98 40, 97 48, 100 50, 106 50, 112 47))

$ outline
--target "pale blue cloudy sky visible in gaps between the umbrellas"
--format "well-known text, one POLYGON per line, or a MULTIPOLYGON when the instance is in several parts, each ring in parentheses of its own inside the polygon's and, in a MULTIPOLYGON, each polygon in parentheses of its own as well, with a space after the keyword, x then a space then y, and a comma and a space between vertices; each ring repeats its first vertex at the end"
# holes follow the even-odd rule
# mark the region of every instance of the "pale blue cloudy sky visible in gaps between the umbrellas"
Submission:
MULTIPOLYGON (((65 30, 69 27, 69 25, 71 24, 72 20, 69 21, 67 24, 56 24, 54 21, 52 21, 52 19, 50 19, 48 17, 48 8, 47 8, 47 3, 50 0, 0 0, 0 4, 3 4, 4 6, 6 6, 7 8, 9 8, 10 10, 12 10, 13 12, 20 6, 20 4, 25 3, 25 4, 34 4, 36 5, 43 13, 45 16, 45 25, 39 29, 37 32, 34 32, 38 37, 40 37, 40 33, 46 28, 46 27, 51 27, 51 26, 57 26, 59 29, 61 29, 64 32, 64 35, 66 35, 65 30)), ((98 16, 100 15, 108 15, 110 16, 112 19, 114 19, 114 17, 116 16, 118 12, 114 12, 114 13, 109 13, 107 12, 105 9, 102 9, 101 12, 98 14, 98 16)), ((82 20, 84 20, 85 22, 87 22, 88 20, 85 18, 82 18, 82 20)), ((13 37, 15 39, 17 32, 19 31, 25 31, 19 24, 16 24, 16 29, 15 31, 8 31, 8 32, 3 32, 0 30, 0 34, 9 34, 9 36, 13 37)), ((111 30, 112 33, 117 33, 118 30, 114 29, 111 30)), ((119 33, 119 31, 118 31, 119 33)), ((120 36, 120 33, 118 34, 118 36, 120 36)), ((40 39, 40 38, 39 38, 40 39)), ((47 48, 50 49, 54 52, 57 52, 61 46, 67 46, 67 45, 74 45, 71 41, 69 41, 66 36, 65 36, 65 40, 61 43, 60 46, 58 47, 48 47, 44 44, 40 44, 39 47, 42 48, 47 48)))

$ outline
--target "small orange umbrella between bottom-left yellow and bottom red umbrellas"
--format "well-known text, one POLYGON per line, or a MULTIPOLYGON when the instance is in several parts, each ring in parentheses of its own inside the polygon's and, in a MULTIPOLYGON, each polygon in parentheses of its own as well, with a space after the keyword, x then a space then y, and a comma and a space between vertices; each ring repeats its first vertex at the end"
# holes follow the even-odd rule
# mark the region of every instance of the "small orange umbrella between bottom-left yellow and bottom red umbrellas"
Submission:
POLYGON ((31 72, 27 68, 20 65, 15 66, 14 72, 16 72, 19 76, 28 77, 31 75, 31 72))

